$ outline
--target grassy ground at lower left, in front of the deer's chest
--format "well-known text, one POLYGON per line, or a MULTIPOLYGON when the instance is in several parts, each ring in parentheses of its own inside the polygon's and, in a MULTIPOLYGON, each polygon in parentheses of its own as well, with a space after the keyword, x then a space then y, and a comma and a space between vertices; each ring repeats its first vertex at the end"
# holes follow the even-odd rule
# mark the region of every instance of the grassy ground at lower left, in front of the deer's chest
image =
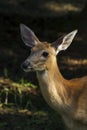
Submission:
POLYGON ((36 86, 0 78, 0 87, 1 130, 64 130, 60 116, 46 106, 36 86))

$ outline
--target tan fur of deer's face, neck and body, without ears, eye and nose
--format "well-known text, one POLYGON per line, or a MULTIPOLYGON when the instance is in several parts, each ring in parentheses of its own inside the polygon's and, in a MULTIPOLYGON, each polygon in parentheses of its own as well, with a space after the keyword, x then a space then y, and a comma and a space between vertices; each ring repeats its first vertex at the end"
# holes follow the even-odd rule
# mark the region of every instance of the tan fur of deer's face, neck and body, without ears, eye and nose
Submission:
POLYGON ((29 60, 37 72, 41 92, 46 102, 62 116, 69 130, 87 130, 87 76, 66 80, 56 62, 56 51, 48 43, 39 43, 29 60), (47 59, 41 57, 48 51, 47 59))

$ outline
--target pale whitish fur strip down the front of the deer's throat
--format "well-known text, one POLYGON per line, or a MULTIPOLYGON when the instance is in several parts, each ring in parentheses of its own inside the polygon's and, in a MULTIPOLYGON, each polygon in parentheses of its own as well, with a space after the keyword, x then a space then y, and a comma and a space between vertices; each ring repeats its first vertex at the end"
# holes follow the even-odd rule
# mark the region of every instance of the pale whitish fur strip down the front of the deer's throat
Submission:
POLYGON ((47 71, 45 71, 42 75, 40 75, 39 83, 42 95, 45 98, 46 102, 53 109, 58 111, 58 108, 60 108, 63 105, 63 102, 56 90, 54 81, 52 81, 52 79, 50 80, 50 76, 48 76, 47 71))

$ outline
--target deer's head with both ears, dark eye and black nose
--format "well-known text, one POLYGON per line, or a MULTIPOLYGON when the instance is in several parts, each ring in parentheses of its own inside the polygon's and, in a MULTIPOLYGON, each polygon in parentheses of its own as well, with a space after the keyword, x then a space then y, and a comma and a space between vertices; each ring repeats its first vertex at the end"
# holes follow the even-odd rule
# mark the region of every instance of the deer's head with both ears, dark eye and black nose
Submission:
POLYGON ((31 48, 30 56, 22 64, 22 68, 26 72, 49 69, 55 63, 56 55, 70 46, 77 33, 77 30, 74 30, 53 43, 47 43, 40 42, 34 32, 24 24, 20 25, 20 30, 23 42, 31 48))

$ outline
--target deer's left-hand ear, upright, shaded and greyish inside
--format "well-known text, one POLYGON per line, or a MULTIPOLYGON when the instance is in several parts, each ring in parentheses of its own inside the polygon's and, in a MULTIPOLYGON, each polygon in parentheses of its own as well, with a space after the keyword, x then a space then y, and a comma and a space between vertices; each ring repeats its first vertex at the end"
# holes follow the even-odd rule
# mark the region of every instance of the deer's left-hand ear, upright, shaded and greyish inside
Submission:
POLYGON ((24 24, 20 24, 20 31, 22 40, 25 43, 25 45, 33 47, 34 45, 40 42, 38 38, 35 36, 34 32, 24 24))

